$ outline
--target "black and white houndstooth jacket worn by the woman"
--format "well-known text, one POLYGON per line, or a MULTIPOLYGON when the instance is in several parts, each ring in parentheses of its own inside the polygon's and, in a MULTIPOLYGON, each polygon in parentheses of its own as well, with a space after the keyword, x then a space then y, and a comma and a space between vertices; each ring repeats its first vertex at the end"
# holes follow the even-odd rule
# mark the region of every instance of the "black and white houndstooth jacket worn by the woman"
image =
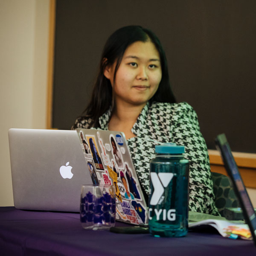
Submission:
MULTIPOLYGON (((111 109, 99 118, 99 129, 108 130, 111 109)), ((89 128, 90 120, 79 117, 72 129, 89 128)), ((132 133, 136 137, 127 140, 143 189, 149 191, 149 160, 154 158, 155 145, 173 142, 185 146, 185 158, 189 160, 189 210, 219 215, 214 204, 209 156, 205 140, 200 132, 198 117, 186 102, 147 103, 137 118, 132 133)))

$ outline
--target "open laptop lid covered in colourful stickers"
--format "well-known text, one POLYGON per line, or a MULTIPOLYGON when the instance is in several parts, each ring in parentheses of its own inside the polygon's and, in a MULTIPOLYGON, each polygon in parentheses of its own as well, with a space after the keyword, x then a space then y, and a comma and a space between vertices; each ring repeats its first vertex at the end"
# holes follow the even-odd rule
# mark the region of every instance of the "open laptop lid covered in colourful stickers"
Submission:
POLYGON ((93 183, 116 186, 116 220, 147 224, 147 204, 125 135, 96 129, 77 129, 77 132, 93 183))

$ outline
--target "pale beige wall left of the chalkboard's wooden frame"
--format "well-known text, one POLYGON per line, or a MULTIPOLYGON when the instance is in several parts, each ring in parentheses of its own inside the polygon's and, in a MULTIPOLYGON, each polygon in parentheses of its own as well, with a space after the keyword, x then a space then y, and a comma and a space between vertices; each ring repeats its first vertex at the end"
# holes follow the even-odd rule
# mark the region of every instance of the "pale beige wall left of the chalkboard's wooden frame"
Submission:
POLYGON ((46 128, 49 0, 0 0, 0 206, 13 206, 9 128, 46 128))

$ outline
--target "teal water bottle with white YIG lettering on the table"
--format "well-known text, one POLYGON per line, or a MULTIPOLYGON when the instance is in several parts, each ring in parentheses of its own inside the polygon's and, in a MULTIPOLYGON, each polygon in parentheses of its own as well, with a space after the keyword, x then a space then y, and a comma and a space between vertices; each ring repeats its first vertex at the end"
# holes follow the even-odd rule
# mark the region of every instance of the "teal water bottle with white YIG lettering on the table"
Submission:
POLYGON ((179 237, 188 232, 189 160, 184 146, 155 146, 150 160, 148 226, 152 236, 179 237))

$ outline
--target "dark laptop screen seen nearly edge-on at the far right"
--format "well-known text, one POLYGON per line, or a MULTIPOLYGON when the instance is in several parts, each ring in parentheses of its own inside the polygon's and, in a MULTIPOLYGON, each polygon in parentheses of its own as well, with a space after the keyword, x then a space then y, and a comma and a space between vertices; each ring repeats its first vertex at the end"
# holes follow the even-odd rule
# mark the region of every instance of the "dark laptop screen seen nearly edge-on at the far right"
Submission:
POLYGON ((221 152, 225 168, 232 180, 236 196, 239 199, 244 214, 244 220, 250 228, 254 244, 256 245, 256 215, 225 134, 218 135, 215 139, 215 143, 216 147, 221 152))

